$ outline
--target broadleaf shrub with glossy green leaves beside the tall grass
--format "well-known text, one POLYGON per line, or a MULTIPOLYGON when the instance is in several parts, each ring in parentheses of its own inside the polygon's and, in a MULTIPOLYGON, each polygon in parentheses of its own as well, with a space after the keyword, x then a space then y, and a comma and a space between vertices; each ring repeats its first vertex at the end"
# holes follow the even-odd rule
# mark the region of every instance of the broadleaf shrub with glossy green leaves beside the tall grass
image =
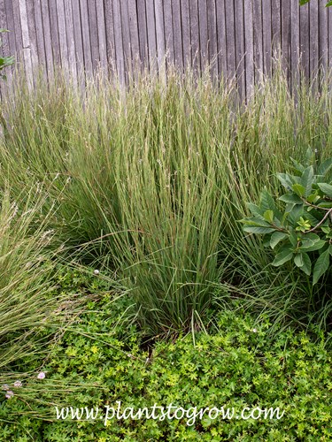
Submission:
POLYGON ((251 217, 240 221, 243 231, 264 236, 264 244, 274 250, 275 267, 292 261, 313 285, 329 275, 332 255, 332 158, 316 164, 311 149, 305 164, 291 158, 294 172, 278 173, 287 192, 274 201, 266 189, 259 205, 248 203, 251 217), (282 207, 280 207, 282 206, 282 207))

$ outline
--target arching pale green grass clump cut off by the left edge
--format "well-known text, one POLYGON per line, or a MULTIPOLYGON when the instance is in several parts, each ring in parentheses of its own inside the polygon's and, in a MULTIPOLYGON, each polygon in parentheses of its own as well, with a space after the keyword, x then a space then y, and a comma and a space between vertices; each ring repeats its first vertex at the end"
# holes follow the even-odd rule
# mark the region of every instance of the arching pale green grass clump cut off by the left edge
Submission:
POLYGON ((43 328, 55 332, 75 305, 52 282, 60 251, 42 215, 44 196, 35 187, 22 192, 25 202, 15 202, 9 187, 0 191, 0 384, 15 379, 22 358, 42 352, 43 328))

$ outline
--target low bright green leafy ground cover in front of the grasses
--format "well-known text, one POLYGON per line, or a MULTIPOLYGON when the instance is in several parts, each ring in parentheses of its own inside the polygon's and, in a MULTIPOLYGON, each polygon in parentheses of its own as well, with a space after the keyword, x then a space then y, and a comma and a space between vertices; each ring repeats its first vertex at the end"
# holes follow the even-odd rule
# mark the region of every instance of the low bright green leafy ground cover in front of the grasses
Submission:
POLYGON ((0 418, 6 421, 0 423, 0 431, 6 441, 331 438, 332 361, 323 336, 314 342, 305 332, 290 328, 271 339, 268 320, 258 325, 243 311, 224 311, 216 315, 214 331, 197 333, 195 345, 187 335, 174 343, 159 341, 150 353, 141 348, 135 325, 119 321, 128 302, 123 298, 115 309, 107 297, 90 303, 90 311, 50 348, 43 368, 47 378, 38 385, 36 380, 22 385, 0 408, 0 418), (80 388, 57 398, 58 413, 64 408, 57 419, 48 390, 60 380, 80 388), (105 407, 117 408, 117 401, 120 415, 126 408, 136 413, 154 404, 173 404, 189 410, 189 417, 181 417, 181 410, 179 419, 161 421, 144 414, 141 419, 117 419, 110 413, 105 421, 105 407), (222 406, 230 415, 248 408, 246 418, 223 419, 215 412, 209 416, 209 410, 193 418, 195 407, 222 406), (76 417, 70 407, 73 413, 78 408, 76 417), (86 408, 97 417, 88 418, 86 408), (258 408, 279 408, 282 417, 259 419, 258 408), (37 412, 43 419, 35 419, 37 412))

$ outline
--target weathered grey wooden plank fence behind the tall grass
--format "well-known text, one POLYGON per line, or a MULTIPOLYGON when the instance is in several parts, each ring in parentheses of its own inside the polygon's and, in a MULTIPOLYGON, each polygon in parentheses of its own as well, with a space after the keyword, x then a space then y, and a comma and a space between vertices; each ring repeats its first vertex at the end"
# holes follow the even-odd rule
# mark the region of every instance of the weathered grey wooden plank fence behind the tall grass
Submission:
MULTIPOLYGON (((4 55, 29 73, 44 65, 78 75, 98 66, 121 81, 128 72, 167 65, 236 78, 249 94, 270 72, 274 50, 284 67, 307 75, 332 65, 332 8, 325 0, 0 0, 4 55)), ((11 72, 10 72, 11 74, 11 72)))

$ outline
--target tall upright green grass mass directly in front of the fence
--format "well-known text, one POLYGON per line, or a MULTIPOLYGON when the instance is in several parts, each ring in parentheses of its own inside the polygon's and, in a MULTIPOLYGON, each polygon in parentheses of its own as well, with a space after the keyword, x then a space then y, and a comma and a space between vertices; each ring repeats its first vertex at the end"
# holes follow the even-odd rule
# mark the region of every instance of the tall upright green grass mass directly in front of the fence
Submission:
POLYGON ((305 81, 291 94, 274 67, 248 103, 208 72, 142 75, 126 88, 100 75, 84 91, 56 74, 31 92, 18 77, 3 103, 0 187, 9 177, 18 199, 22 183, 44 182, 50 228, 126 281, 148 334, 203 328, 233 297, 274 323, 303 322, 307 281, 271 266, 273 252, 237 222, 264 186, 280 191, 290 157, 301 163, 308 146, 322 161, 332 154, 328 73, 320 94, 305 81))

